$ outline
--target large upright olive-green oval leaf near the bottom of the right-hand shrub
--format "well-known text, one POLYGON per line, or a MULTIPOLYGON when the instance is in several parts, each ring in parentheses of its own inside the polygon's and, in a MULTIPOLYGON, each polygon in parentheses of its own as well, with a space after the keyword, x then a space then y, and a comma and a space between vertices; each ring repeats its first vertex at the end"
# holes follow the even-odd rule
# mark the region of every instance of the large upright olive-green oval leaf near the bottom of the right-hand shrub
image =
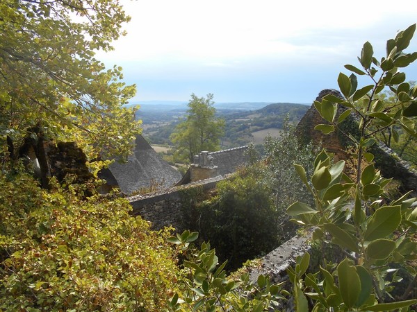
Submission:
POLYGON ((343 302, 347 308, 352 308, 361 293, 361 279, 359 279, 357 270, 354 266, 350 266, 349 261, 345 258, 337 266, 337 275, 343 302))

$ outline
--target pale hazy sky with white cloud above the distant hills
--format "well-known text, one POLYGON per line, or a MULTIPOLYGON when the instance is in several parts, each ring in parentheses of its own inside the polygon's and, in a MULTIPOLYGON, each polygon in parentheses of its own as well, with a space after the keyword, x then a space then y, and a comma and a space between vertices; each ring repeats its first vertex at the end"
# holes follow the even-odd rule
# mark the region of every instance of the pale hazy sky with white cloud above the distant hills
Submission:
MULTIPOLYGON (((138 0, 115 51, 97 53, 136 83, 132 103, 188 101, 312 103, 336 88, 344 64, 359 66, 367 40, 375 56, 417 22, 416 0, 138 0), (397 6, 398 5, 398 6, 397 6)), ((417 34, 409 52, 417 51, 417 34)), ((406 71, 417 80, 417 62, 406 71)))

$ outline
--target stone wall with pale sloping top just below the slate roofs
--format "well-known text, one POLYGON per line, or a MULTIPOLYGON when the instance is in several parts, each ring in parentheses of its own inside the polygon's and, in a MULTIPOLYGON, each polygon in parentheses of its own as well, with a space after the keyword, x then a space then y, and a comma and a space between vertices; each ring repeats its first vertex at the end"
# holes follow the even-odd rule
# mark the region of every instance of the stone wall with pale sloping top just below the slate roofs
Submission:
POLYGON ((196 190, 209 192, 215 188, 219 181, 227 177, 228 175, 219 175, 211 179, 174 187, 165 192, 128 198, 133 207, 132 215, 141 216, 150 221, 152 229, 172 226, 177 232, 183 232, 189 228, 190 222, 193 222, 195 218, 192 215, 193 211, 187 211, 185 207, 185 200, 188 200, 186 193, 193 193, 196 190))

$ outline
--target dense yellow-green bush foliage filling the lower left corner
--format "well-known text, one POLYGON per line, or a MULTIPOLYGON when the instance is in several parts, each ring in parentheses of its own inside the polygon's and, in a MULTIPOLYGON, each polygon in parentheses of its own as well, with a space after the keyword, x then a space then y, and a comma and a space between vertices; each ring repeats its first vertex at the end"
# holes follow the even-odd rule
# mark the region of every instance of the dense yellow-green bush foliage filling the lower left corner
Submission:
POLYGON ((162 311, 179 291, 169 230, 129 216, 127 200, 45 191, 24 173, 0 188, 3 311, 162 311))

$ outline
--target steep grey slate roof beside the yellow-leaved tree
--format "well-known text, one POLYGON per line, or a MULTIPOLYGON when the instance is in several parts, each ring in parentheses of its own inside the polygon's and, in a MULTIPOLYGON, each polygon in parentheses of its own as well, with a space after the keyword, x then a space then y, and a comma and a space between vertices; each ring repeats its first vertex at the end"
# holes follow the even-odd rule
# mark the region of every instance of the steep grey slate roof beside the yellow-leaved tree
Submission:
POLYGON ((138 135, 135 150, 126 163, 113 162, 99 177, 110 185, 118 185, 120 190, 130 194, 138 189, 157 185, 158 189, 172 187, 181 180, 181 173, 165 162, 147 141, 138 135))

